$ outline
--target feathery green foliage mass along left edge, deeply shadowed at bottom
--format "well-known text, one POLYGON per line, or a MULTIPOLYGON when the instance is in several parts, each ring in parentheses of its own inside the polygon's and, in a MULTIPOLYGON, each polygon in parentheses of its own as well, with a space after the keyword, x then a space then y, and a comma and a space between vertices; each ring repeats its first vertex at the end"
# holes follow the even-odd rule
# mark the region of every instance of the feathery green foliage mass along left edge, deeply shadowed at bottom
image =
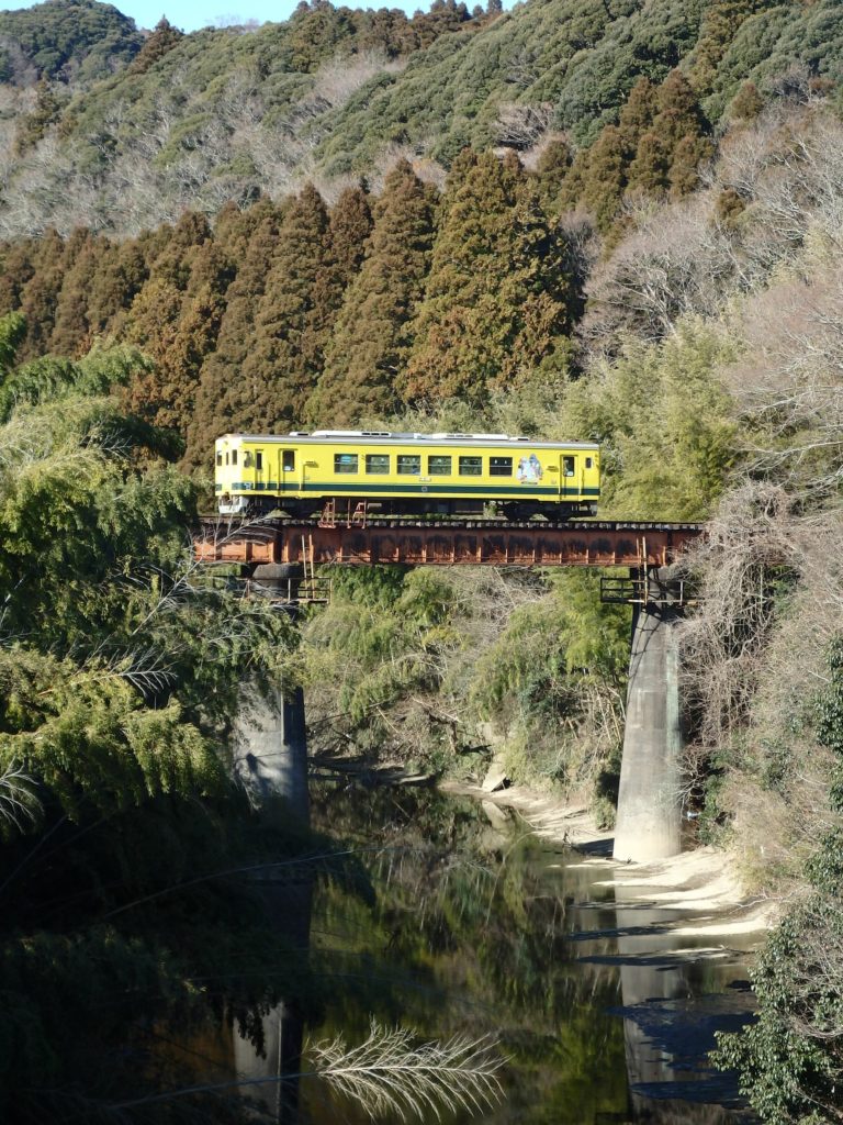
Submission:
POLYGON ((228 760, 239 685, 282 682, 291 627, 197 574, 185 549, 194 489, 149 461, 171 441, 117 400, 148 362, 101 348, 15 368, 21 330, 19 316, 0 325, 0 1116, 10 1123, 90 1119, 148 1092, 144 1028, 176 1012, 181 1027, 219 1027, 226 1008, 253 1027, 250 1010, 302 975, 300 962, 278 975, 279 937, 232 875, 268 849, 277 860, 301 846, 255 822, 228 760), (10 816, 15 778, 25 806, 10 816))

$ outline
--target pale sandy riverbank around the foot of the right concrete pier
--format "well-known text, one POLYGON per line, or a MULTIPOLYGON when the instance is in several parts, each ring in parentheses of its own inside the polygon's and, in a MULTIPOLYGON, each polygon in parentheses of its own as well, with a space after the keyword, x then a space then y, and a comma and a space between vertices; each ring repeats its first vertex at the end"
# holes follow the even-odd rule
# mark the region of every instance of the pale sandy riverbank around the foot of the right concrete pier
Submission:
POLYGON ((493 793, 464 784, 442 788, 515 810, 541 839, 577 850, 582 858, 574 866, 604 870, 606 879, 598 885, 615 886, 624 900, 687 915, 687 924, 673 928, 679 936, 756 935, 760 942, 776 922, 779 904, 747 894, 727 852, 706 846, 652 863, 619 863, 611 858, 611 830, 598 828, 586 806, 565 804, 518 785, 493 793))

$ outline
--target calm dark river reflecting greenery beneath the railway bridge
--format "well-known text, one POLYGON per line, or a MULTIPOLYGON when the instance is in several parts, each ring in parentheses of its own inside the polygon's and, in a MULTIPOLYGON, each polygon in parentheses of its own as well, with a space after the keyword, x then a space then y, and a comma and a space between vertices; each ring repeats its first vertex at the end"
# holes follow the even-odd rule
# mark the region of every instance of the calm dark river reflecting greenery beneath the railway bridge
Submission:
MULTIPOLYGON (((500 1102, 445 1122, 753 1119, 705 1060, 715 1029, 746 1019, 746 952, 679 939, 676 914, 623 900, 610 863, 543 843, 488 802, 345 783, 311 796, 314 827, 353 855, 346 876, 312 884, 307 1038, 353 1045, 372 1019, 422 1040, 493 1036, 500 1102)), ((300 916, 310 896, 293 901, 300 916)), ((370 1119, 318 1079, 283 1112, 264 1092, 264 1112, 300 1125, 370 1119)))

